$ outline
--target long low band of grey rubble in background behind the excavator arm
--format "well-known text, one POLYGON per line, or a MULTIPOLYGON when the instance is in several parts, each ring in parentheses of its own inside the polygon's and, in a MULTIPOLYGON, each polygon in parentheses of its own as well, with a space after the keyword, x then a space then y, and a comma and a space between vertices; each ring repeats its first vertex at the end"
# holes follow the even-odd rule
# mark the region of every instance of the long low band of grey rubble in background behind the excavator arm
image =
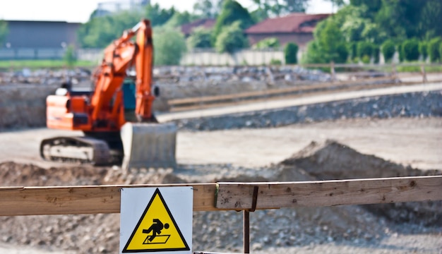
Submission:
MULTIPOLYGON (((73 84, 90 80, 90 69, 37 69, 23 68, 20 71, 2 71, 0 85, 9 83, 33 83, 54 85, 70 79, 73 84)), ((129 71, 129 76, 135 75, 129 71)), ((189 82, 229 82, 314 80, 330 81, 330 74, 309 70, 299 66, 158 66, 153 69, 157 84, 189 82)))

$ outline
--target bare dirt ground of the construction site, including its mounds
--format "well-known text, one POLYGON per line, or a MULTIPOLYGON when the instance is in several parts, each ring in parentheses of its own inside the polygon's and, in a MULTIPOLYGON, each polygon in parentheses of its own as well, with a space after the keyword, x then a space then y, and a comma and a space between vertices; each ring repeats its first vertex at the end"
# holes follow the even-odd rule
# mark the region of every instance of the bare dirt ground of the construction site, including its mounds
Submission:
MULTIPOLYGON (((442 169, 440 117, 179 131, 177 169, 126 176, 119 167, 40 159, 42 138, 78 134, 47 128, 0 132, 0 186, 305 181, 419 176, 442 169)), ((241 220, 239 212, 195 212, 193 250, 240 253, 241 220)), ((251 213, 251 250, 440 254, 441 224, 441 202, 263 210, 251 213)), ((118 246, 119 214, 0 217, 0 253, 116 253, 118 246)))

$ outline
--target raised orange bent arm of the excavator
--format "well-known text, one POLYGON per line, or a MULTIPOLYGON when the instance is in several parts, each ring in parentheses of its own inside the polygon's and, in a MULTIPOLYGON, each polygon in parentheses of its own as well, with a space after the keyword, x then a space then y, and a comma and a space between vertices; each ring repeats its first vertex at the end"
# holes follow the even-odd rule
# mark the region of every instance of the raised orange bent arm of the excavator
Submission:
MULTIPOLYGON (((136 69, 136 109, 139 121, 153 119, 152 95, 153 41, 149 20, 142 20, 104 49, 104 59, 95 71, 95 91, 91 99, 92 128, 101 123, 117 123, 117 128, 125 123, 121 95, 121 85, 126 71, 136 69), (135 42, 131 39, 136 35, 135 42)), ((112 126, 111 126, 112 127, 112 126)))

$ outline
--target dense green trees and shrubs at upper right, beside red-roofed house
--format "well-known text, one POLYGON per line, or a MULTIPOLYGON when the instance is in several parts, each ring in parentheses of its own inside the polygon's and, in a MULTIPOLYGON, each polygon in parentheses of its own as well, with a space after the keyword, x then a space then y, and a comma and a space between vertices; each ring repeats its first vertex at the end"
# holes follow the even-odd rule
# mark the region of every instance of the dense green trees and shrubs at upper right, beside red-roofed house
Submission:
POLYGON ((400 61, 417 61, 419 56, 441 61, 442 1, 350 0, 342 5, 318 23, 304 62, 376 63, 380 52, 386 61, 395 52, 400 61))

